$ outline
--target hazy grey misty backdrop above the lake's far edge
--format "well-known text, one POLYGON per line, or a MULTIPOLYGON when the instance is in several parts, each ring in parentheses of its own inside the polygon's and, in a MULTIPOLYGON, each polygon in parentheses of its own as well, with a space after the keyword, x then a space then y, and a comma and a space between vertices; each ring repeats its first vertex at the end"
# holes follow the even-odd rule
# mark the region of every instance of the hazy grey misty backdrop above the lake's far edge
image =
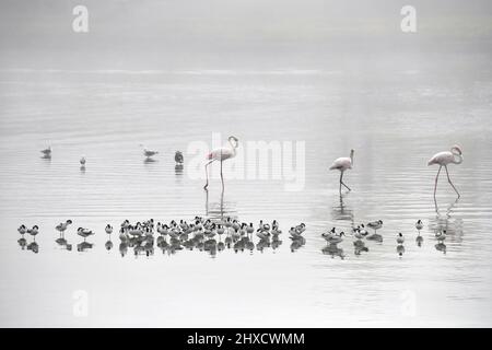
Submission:
MULTIPOLYGON (((1 69, 323 69, 373 63, 382 71, 435 55, 488 60, 492 3, 333 0, 2 0, 1 69), (74 33, 72 9, 89 9, 74 33), (417 33, 400 10, 417 9, 417 33)), ((441 56, 440 56, 441 57, 441 56)), ((450 66, 449 66, 450 65, 450 66)))

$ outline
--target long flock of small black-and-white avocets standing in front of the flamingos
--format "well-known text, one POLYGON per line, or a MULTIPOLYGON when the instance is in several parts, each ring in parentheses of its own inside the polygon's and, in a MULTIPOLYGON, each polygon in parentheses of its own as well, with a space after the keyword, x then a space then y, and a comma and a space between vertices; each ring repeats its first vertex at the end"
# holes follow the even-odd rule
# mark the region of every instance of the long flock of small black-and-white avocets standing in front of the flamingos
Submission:
MULTIPOLYGON (((72 250, 72 245, 68 243, 65 234, 69 226, 72 224, 71 220, 59 223, 55 229, 59 232, 59 237, 56 243, 67 250, 72 250)), ((383 228, 383 221, 377 220, 367 223, 366 225, 361 224, 356 228, 351 229, 350 234, 345 234, 343 231, 337 231, 336 228, 328 232, 321 234, 326 240, 327 246, 321 249, 324 254, 329 254, 333 256, 344 257, 343 249, 338 247, 344 237, 348 235, 353 237, 353 246, 355 255, 360 255, 362 252, 368 252, 365 245, 365 241, 383 242, 383 235, 377 233, 379 229, 383 228), (373 232, 368 232, 367 229, 373 232)), ((423 222, 421 220, 417 221, 415 229, 418 230, 418 235, 415 238, 417 245, 421 246, 423 237, 420 235, 420 231, 423 229, 423 222)), ((34 225, 27 229, 22 224, 17 229, 21 234, 21 238, 17 241, 22 249, 27 248, 34 253, 39 252, 39 246, 36 243, 36 235, 39 233, 39 228, 34 225), (27 244, 25 235, 33 236, 33 242, 27 244)), ((108 235, 109 240, 105 244, 105 248, 110 250, 113 248, 112 234, 114 229, 110 224, 105 228, 105 233, 108 235)), ((306 243, 304 232, 306 231, 306 225, 300 223, 296 226, 292 226, 289 230, 289 238, 292 241, 291 250, 295 252, 306 243)), ((95 232, 89 229, 79 228, 77 234, 83 238, 83 242, 77 245, 79 252, 84 252, 93 248, 93 244, 89 243, 86 240, 95 235, 95 232)), ((277 249, 282 241, 280 235, 282 231, 280 230, 279 222, 273 220, 271 224, 265 223, 260 220, 257 228, 253 223, 239 222, 236 219, 226 218, 223 220, 213 221, 211 219, 203 219, 201 217, 195 217, 191 222, 180 220, 176 222, 172 220, 168 224, 157 222, 154 223, 153 219, 137 222, 131 224, 128 220, 125 220, 119 229, 119 252, 121 256, 127 255, 128 249, 132 248, 136 256, 139 255, 153 255, 154 245, 161 248, 163 253, 175 254, 180 249, 194 248, 200 252, 208 252, 212 256, 215 256, 218 252, 222 252, 225 248, 234 249, 234 252, 253 252, 255 248, 259 252, 263 252, 265 248, 271 247, 277 249), (256 244, 254 243, 254 236, 256 235, 256 244)), ((435 238, 437 244, 435 245, 437 250, 445 253, 446 246, 444 241, 446 240, 446 231, 440 231, 435 233, 435 238)), ((397 253, 402 256, 405 252, 403 243, 405 236, 398 233, 396 236, 397 253)))

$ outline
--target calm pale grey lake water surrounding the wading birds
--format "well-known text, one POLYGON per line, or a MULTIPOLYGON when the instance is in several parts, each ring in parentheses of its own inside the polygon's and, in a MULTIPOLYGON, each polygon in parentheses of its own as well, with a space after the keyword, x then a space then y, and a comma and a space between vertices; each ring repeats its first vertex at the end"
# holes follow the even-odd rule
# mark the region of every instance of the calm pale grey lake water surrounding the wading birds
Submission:
POLYGON ((457 61, 456 70, 0 72, 0 326, 492 326, 491 66, 457 61), (210 144, 213 132, 236 136, 239 153, 247 141, 305 141, 304 188, 225 171, 221 206, 220 179, 207 196, 187 168, 190 142, 210 144), (160 151, 155 162, 144 162, 140 143, 160 151), (461 198, 443 174, 436 213, 437 167, 426 161, 455 143, 465 161, 449 171, 461 198), (40 159, 48 144, 51 160, 40 159), (351 148, 344 180, 353 190, 340 197, 328 167, 351 148), (176 150, 185 153, 183 172, 176 150), (277 219, 282 244, 121 257, 113 234, 114 248, 104 246, 107 223, 221 210, 255 225, 277 219), (55 242, 67 219, 71 252, 55 242), (349 236, 337 253, 343 258, 324 254, 323 232, 377 219, 383 243, 355 255, 349 236), (288 231, 301 222, 306 244, 292 252, 288 231), (39 225, 38 254, 19 246, 22 223, 39 225), (79 226, 96 231, 92 249, 77 250, 79 226), (445 252, 434 237, 442 229, 445 252), (80 291, 85 316, 74 313, 80 291))

